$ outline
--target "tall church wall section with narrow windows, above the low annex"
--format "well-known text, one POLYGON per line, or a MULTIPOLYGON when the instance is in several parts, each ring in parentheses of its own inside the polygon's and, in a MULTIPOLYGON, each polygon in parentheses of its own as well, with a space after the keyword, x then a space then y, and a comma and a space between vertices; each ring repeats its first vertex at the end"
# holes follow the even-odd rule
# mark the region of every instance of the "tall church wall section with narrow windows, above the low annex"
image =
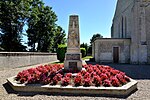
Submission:
POLYGON ((112 38, 131 38, 134 0, 118 0, 113 18, 112 38))

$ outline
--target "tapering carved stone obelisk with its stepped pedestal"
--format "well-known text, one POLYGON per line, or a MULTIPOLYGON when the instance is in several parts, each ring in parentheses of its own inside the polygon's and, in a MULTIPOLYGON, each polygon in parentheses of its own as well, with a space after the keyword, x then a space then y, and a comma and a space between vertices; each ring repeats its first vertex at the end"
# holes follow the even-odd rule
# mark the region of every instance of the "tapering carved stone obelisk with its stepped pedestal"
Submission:
POLYGON ((78 15, 71 15, 69 17, 67 52, 65 54, 64 66, 65 70, 69 72, 77 72, 82 69, 78 15))

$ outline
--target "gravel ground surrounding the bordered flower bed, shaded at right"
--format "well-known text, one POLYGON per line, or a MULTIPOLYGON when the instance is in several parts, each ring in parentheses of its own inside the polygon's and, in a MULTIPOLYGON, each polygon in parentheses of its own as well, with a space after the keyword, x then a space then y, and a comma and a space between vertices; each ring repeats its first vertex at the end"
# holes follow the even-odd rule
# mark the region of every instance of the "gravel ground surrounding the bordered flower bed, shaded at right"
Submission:
POLYGON ((0 69, 0 100, 150 100, 150 65, 111 65, 138 81, 138 90, 127 98, 65 96, 51 94, 16 93, 6 79, 29 67, 0 69))

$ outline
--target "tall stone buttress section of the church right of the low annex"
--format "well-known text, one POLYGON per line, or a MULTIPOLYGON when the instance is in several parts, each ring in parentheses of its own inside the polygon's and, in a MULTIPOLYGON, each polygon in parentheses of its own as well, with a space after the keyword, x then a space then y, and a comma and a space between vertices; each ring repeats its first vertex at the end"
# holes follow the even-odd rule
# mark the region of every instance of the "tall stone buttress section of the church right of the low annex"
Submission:
MULTIPOLYGON (((147 64, 148 63, 148 40, 150 39, 148 30, 146 29, 149 13, 146 11, 147 4, 142 1, 136 1, 132 15, 132 35, 131 35, 131 63, 133 64, 147 64)), ((150 9, 149 9, 150 10, 150 9)))

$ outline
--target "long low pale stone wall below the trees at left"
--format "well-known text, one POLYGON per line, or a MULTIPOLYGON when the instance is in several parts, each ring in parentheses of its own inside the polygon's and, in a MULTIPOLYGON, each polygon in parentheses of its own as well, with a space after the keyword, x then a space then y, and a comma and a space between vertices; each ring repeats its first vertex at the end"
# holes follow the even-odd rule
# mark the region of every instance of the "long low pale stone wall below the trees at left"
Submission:
POLYGON ((56 53, 0 52, 0 68, 15 68, 57 61, 56 53))

